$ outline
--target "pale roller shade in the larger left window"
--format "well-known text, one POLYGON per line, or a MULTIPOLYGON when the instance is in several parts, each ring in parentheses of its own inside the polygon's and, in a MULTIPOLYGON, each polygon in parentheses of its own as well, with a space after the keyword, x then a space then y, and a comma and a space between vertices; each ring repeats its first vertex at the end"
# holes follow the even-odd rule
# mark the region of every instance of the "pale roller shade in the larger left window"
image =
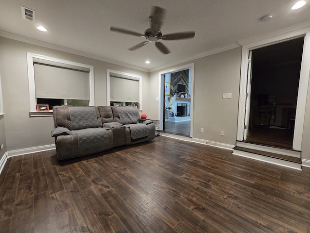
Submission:
POLYGON ((89 100, 89 72, 34 64, 36 98, 89 100))

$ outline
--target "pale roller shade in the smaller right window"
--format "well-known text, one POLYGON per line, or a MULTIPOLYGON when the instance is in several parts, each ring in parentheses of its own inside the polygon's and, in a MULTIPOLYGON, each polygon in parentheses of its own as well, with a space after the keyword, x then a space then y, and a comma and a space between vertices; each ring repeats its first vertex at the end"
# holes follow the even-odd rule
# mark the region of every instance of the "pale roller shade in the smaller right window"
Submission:
POLYGON ((139 102, 139 81, 110 76, 110 100, 139 102))

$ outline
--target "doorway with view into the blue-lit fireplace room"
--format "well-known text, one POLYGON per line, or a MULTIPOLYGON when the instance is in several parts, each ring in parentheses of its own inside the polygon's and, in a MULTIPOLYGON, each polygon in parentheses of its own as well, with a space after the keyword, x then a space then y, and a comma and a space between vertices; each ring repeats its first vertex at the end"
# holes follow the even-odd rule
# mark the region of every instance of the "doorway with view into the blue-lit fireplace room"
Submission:
POLYGON ((192 136, 193 67, 190 64, 159 73, 161 130, 180 136, 192 136))

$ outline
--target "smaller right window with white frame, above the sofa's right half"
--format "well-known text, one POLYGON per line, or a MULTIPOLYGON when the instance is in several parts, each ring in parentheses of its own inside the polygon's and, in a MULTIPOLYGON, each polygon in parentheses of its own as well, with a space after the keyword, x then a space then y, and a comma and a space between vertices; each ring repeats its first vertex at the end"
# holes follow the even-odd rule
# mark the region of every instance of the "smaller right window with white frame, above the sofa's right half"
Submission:
POLYGON ((142 109, 141 76, 107 70, 107 102, 110 105, 135 105, 142 109))

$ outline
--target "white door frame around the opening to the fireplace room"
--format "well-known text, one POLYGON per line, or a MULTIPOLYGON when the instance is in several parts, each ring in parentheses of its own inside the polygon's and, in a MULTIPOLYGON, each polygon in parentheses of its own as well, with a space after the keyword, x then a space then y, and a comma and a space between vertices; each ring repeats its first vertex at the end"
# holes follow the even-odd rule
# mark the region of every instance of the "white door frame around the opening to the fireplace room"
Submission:
POLYGON ((163 70, 158 73, 158 86, 159 86, 159 111, 158 111, 158 119, 160 119, 160 130, 163 130, 165 120, 164 118, 164 74, 174 73, 182 70, 189 69, 188 76, 191 76, 191 97, 190 97, 190 137, 193 137, 193 112, 194 112, 194 63, 190 63, 184 66, 171 68, 168 70, 163 70))

